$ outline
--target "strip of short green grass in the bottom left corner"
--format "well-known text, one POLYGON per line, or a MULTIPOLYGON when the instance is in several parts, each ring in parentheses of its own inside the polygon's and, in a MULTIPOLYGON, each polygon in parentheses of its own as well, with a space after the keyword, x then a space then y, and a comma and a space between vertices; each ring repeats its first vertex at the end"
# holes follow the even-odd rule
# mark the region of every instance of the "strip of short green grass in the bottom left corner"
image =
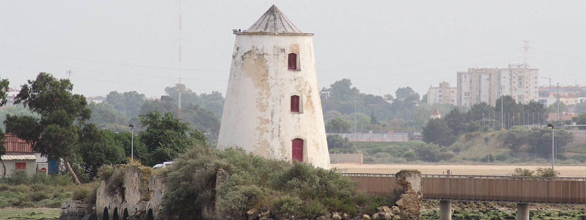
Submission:
POLYGON ((61 208, 2 208, 0 219, 49 220, 59 219, 61 208))

